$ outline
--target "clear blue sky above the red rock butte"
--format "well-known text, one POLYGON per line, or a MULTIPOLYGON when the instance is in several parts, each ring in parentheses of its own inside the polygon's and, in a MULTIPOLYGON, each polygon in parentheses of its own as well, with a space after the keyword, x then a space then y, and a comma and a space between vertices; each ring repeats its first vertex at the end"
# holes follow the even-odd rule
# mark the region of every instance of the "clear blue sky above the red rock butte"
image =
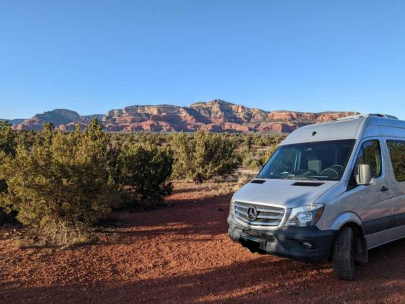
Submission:
POLYGON ((405 2, 0 2, 0 118, 221 98, 405 119, 405 2))

